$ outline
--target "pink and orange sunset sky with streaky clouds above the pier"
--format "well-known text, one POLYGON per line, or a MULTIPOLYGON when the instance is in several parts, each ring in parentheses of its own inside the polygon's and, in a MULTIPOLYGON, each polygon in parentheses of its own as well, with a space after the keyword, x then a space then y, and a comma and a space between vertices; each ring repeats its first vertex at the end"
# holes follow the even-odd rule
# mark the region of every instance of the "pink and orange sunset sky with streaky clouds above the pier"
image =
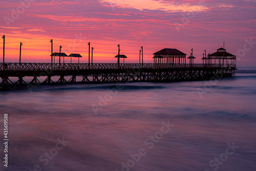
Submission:
MULTIPOLYGON (((237 55, 238 67, 256 64, 256 1, 211 0, 0 0, 0 34, 5 35, 5 61, 51 62, 53 52, 79 53, 88 62, 88 42, 93 62, 153 62, 153 53, 178 49, 187 57, 193 49, 195 63, 204 50, 219 48, 237 55)), ((0 61, 3 60, 3 39, 0 61)), ((187 59, 188 62, 189 59, 187 59)), ((70 62, 66 57, 65 62, 70 62)), ((77 59, 72 59, 77 62, 77 59)))

